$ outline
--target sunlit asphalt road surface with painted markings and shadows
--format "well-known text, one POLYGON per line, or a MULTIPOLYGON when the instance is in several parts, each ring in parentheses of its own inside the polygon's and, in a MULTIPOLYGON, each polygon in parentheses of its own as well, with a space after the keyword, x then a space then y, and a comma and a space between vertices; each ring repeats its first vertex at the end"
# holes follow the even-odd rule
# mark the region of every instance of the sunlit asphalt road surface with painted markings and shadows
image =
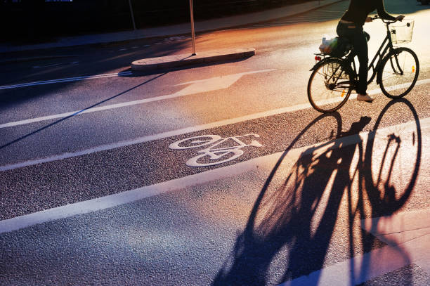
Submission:
POLYGON ((309 69, 347 6, 198 34, 256 56, 185 70, 129 65, 188 37, 9 55, 0 285, 430 285, 430 6, 386 3, 415 20, 408 95, 321 115, 309 69))

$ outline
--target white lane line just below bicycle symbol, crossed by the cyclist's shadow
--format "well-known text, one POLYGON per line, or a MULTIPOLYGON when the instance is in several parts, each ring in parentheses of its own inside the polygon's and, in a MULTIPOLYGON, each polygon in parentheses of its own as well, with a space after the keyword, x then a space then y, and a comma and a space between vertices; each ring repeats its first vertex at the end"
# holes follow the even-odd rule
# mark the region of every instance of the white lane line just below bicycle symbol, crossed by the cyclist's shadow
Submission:
MULTIPOLYGON (((384 129, 379 129, 377 131, 377 134, 391 133, 393 132, 392 131, 393 129, 395 129, 396 131, 398 131, 399 129, 401 130, 413 129, 415 128, 415 124, 416 124, 415 122, 407 122, 404 124, 398 124, 396 126, 386 127, 384 129)), ((426 118, 422 120, 421 124, 422 124, 422 129, 428 128, 430 126, 430 118, 426 118)), ((325 145, 324 148, 327 148, 327 150, 330 150, 331 148, 339 148, 339 145, 347 146, 351 144, 365 142, 367 141, 367 138, 374 137, 374 136, 377 136, 377 135, 374 134, 373 132, 372 133, 362 132, 359 135, 346 136, 334 141, 326 141, 323 143, 316 143, 313 145, 289 150, 287 156, 284 158, 284 162, 296 162, 301 155, 308 154, 309 152, 313 152, 313 147, 317 147, 318 145, 325 145), (330 144, 327 144, 327 142, 330 142, 330 144)), ((385 136, 383 137, 385 138, 385 136)), ((67 217, 75 216, 77 214, 87 214, 90 212, 96 212, 110 207, 117 207, 122 204, 127 204, 129 202, 136 202, 146 197, 160 195, 162 193, 166 193, 169 191, 181 190, 184 188, 195 186, 197 184, 209 183, 211 181, 216 181, 216 180, 228 178, 231 176, 237 176, 247 171, 252 171, 262 165, 268 166, 270 169, 271 167, 273 167, 273 162, 277 162, 279 158, 284 155, 283 153, 284 152, 277 152, 275 154, 258 157, 252 160, 240 162, 227 167, 221 167, 218 169, 204 171, 198 174, 193 174, 190 176, 177 178, 171 181, 157 183, 151 186, 144 186, 133 190, 127 190, 122 193, 107 195, 105 197, 98 197, 96 199, 86 200, 84 202, 67 204, 65 206, 55 207, 53 209, 46 209, 44 211, 35 212, 32 214, 16 216, 12 219, 6 219, 3 221, 0 221, 0 233, 8 233, 13 230, 27 228, 29 226, 34 226, 39 223, 45 223, 45 222, 54 221, 57 219, 65 219, 67 217)))

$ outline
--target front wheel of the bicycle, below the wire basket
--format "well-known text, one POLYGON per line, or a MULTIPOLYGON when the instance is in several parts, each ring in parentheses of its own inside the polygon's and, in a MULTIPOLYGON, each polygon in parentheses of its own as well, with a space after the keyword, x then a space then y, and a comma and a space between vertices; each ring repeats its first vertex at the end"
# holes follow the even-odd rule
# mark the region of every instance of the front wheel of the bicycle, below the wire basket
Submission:
POLYGON ((411 91, 419 74, 418 57, 410 48, 395 48, 383 60, 378 72, 382 93, 401 98, 411 91))

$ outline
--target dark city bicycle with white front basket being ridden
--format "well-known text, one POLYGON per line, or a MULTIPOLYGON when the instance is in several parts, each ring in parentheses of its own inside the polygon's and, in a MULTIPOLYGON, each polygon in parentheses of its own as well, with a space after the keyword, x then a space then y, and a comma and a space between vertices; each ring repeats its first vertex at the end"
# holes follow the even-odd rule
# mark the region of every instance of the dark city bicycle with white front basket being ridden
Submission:
MULTIPOLYGON (((372 20, 377 19, 381 18, 372 17, 372 20)), ((397 20, 381 20, 386 25, 386 37, 368 67, 369 71, 372 70, 372 76, 367 84, 376 77, 385 96, 402 98, 417 82, 419 61, 417 54, 410 48, 394 47, 393 44, 412 40, 414 22, 405 21, 403 26, 390 27, 397 20)), ((312 74, 308 82, 308 100, 315 110, 334 112, 346 103, 358 84, 355 57, 353 46, 347 48, 340 57, 315 53, 317 63, 311 68, 312 74)))

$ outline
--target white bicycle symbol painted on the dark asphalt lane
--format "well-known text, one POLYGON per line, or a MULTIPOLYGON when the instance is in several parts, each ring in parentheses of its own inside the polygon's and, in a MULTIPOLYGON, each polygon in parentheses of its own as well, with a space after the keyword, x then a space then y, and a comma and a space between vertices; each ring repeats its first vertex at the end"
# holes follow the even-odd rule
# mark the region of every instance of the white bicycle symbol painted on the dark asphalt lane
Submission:
POLYGON ((176 141, 171 143, 169 148, 190 149, 210 145, 205 149, 197 151, 199 155, 191 158, 185 163, 188 167, 207 167, 237 159, 237 157, 240 157, 243 154, 241 149, 244 147, 263 146, 255 140, 252 140, 251 143, 246 144, 239 139, 249 136, 256 138, 260 137, 258 134, 246 134, 227 138, 221 138, 221 136, 218 135, 202 135, 176 141))

